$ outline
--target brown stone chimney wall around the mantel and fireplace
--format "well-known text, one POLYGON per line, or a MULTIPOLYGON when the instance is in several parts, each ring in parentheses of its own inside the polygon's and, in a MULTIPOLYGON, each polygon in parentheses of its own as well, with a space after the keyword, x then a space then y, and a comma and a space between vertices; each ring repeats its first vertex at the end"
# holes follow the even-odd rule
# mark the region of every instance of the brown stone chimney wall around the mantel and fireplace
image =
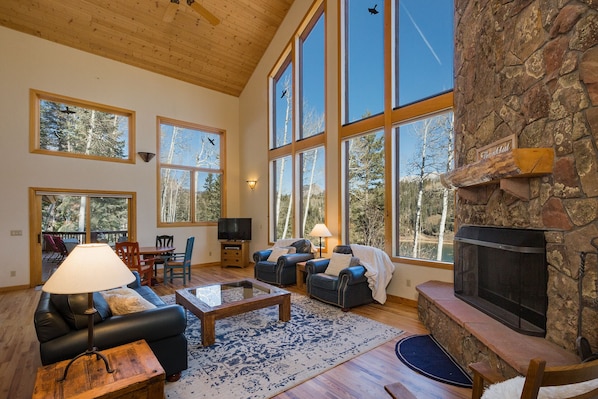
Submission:
MULTIPOLYGON (((530 179, 529 201, 480 186, 477 200, 457 196, 455 216, 546 231, 546 338, 573 351, 580 252, 598 253, 598 0, 455 0, 454 98, 456 167, 510 135, 519 148, 554 148, 554 171, 530 179)), ((597 265, 588 255, 581 306, 594 351, 597 265)))

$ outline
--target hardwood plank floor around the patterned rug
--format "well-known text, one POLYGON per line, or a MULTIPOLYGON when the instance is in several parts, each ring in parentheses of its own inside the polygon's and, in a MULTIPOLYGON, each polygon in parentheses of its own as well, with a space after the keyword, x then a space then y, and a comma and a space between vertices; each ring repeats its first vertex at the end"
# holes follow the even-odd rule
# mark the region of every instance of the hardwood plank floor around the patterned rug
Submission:
MULTIPOLYGON (((253 268, 199 267, 192 271, 187 286, 253 277, 253 268)), ((158 295, 172 294, 183 287, 181 280, 160 284, 153 289, 158 295)), ((299 291, 295 286, 289 291, 299 291)), ((33 326, 33 313, 39 300, 39 289, 0 293, 0 397, 30 398, 37 368, 41 365, 38 342, 33 326)), ((392 325, 409 333, 428 331, 417 318, 417 309, 389 300, 385 305, 365 305, 351 310, 356 314, 392 325)), ((427 379, 407 368, 395 355, 397 340, 387 342, 363 355, 322 373, 288 391, 278 399, 297 398, 390 398, 384 385, 402 382, 418 398, 471 397, 471 389, 457 388, 427 379)))

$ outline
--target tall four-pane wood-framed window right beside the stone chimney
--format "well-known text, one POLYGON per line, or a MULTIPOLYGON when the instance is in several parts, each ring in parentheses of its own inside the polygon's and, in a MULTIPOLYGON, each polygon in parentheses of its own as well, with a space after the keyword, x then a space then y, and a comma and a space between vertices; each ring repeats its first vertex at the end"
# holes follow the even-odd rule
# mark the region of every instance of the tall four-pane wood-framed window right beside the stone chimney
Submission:
POLYGON ((341 15, 343 240, 450 262, 453 0, 342 0, 341 15))

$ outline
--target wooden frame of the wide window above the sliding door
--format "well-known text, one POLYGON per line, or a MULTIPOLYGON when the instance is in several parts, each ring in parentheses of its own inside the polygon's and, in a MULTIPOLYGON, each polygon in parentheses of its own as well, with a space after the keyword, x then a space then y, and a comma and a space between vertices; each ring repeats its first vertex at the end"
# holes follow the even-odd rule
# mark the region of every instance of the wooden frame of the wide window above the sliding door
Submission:
POLYGON ((29 108, 30 108, 30 127, 29 127, 29 151, 35 154, 53 155, 66 158, 78 159, 93 159, 106 162, 131 163, 136 162, 135 159, 135 111, 125 108, 119 108, 111 105, 95 103, 91 101, 81 100, 73 97, 64 96, 61 94, 49 93, 41 90, 29 90, 29 108), (81 108, 93 109, 96 111, 111 113, 128 118, 128 135, 127 135, 127 157, 114 158, 99 155, 86 155, 63 151, 54 151, 41 148, 41 106, 40 102, 46 100, 57 102, 65 105, 71 105, 81 108))

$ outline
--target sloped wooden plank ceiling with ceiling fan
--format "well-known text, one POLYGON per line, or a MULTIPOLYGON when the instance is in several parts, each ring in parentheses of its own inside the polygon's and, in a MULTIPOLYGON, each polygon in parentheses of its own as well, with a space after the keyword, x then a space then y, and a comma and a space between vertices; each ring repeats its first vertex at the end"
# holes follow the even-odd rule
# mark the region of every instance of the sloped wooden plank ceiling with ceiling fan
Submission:
POLYGON ((293 0, 195 1, 1 0, 0 25, 239 96, 293 0))

